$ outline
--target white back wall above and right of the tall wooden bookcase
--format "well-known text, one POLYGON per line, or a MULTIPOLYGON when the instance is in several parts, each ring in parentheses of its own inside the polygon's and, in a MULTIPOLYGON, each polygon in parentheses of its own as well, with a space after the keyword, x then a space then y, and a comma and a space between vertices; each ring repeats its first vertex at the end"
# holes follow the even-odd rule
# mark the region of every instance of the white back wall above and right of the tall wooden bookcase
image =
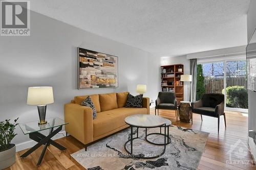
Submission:
MULTIPOLYGON (((184 65, 184 74, 190 74, 190 61, 186 58, 186 56, 178 56, 178 57, 161 57, 161 65, 173 65, 173 64, 183 64, 184 65)), ((187 91, 186 82, 184 84, 184 101, 188 101, 188 91, 187 91)))

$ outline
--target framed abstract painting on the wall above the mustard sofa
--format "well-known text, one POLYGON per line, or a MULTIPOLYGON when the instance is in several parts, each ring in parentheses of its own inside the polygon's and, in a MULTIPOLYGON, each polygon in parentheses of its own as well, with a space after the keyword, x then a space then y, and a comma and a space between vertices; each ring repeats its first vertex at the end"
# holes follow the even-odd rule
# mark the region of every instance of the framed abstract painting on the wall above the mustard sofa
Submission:
POLYGON ((118 57, 78 47, 78 89, 118 87, 118 57))

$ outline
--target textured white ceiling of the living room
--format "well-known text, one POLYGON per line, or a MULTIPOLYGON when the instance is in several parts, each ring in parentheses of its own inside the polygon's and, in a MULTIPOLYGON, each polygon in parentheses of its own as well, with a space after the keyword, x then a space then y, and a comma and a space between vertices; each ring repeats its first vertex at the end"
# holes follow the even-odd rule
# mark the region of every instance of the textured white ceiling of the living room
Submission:
POLYGON ((245 45, 250 0, 33 0, 31 10, 144 51, 177 56, 245 45))

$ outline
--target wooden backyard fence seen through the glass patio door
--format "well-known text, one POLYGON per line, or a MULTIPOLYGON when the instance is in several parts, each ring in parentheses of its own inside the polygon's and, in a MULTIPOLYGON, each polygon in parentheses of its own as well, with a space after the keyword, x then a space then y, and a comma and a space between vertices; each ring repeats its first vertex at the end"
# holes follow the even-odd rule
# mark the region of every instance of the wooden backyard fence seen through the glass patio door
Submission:
MULTIPOLYGON (((224 78, 205 78, 205 92, 206 93, 222 93, 224 89, 224 78)), ((246 86, 245 77, 227 77, 226 84, 228 86, 246 86)))

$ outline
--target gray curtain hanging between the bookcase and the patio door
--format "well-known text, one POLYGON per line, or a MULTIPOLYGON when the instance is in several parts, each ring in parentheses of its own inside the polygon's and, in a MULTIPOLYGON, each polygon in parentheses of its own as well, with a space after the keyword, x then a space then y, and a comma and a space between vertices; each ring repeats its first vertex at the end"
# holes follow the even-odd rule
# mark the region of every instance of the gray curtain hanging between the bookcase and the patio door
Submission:
POLYGON ((190 59, 190 75, 192 75, 190 102, 195 102, 197 97, 197 59, 190 59))

